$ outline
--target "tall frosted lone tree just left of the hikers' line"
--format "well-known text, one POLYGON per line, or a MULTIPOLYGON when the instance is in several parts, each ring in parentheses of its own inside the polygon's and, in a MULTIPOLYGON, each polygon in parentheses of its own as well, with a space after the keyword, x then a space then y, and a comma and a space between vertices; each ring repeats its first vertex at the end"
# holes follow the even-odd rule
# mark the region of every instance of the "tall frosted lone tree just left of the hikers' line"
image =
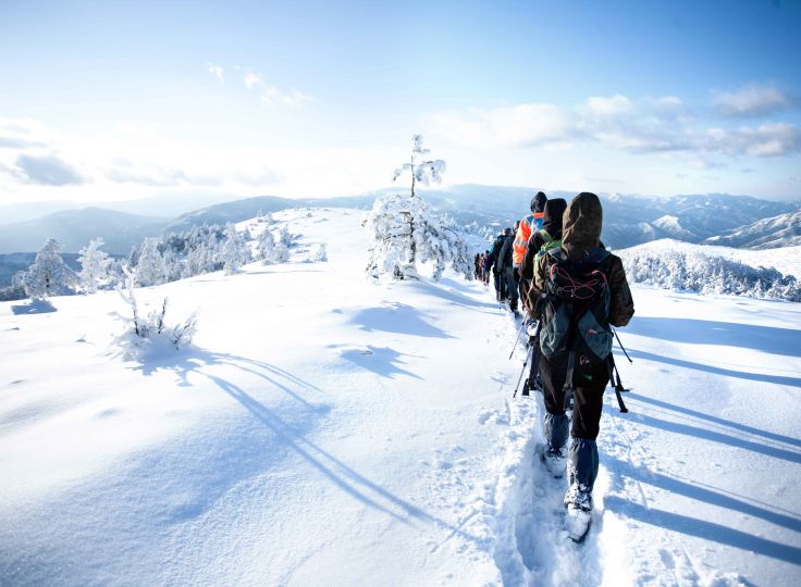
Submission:
POLYGON ((422 136, 415 135, 411 141, 409 162, 395 170, 393 178, 396 182, 408 172, 409 192, 377 199, 365 221, 374 240, 367 273, 373 277, 391 274, 395 279, 417 279, 417 262, 432 261, 434 279, 442 276, 447 262, 469 278, 470 263, 464 241, 454 230, 444 228, 417 195, 418 184, 442 182, 445 162, 429 159, 430 151, 423 148, 422 136))

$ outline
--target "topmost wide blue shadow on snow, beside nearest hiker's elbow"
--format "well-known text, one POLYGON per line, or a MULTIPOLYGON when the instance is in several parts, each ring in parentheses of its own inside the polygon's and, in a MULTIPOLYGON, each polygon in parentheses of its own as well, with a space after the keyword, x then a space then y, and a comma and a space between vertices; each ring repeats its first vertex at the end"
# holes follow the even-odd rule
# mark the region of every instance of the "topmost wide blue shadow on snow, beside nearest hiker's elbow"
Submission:
POLYGON ((791 328, 681 317, 634 316, 626 332, 671 342, 720 345, 785 357, 801 357, 801 330, 791 328))

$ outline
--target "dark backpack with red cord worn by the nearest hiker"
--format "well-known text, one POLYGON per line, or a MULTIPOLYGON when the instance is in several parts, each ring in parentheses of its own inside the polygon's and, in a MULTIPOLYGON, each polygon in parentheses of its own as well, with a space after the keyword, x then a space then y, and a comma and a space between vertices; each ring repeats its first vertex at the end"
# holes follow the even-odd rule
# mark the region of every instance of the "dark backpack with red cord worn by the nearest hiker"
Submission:
POLYGON ((605 271, 609 252, 596 247, 575 261, 556 248, 546 255, 540 350, 546 359, 574 352, 577 369, 606 362, 613 339, 605 271))

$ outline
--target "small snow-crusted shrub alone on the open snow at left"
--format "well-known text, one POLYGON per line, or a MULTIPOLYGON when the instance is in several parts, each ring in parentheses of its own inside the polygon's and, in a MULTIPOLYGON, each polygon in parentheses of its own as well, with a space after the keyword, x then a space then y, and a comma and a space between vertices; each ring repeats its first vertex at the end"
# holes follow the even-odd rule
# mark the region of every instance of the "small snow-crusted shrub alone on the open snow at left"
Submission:
POLYGON ((159 308, 139 308, 134 294, 137 268, 125 264, 123 272, 125 273, 125 289, 118 287, 116 291, 128 305, 131 315, 113 314, 125 325, 123 333, 115 340, 116 346, 122 350, 123 359, 146 360, 188 347, 197 330, 196 314, 193 313, 177 324, 168 324, 169 300, 167 297, 159 308))

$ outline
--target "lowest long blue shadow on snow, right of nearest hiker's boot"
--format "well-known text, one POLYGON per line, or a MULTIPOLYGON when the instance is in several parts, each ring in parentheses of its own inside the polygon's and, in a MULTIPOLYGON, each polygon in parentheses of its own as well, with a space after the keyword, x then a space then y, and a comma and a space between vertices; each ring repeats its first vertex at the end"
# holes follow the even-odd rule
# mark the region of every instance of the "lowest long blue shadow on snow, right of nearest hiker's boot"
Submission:
POLYGON ((722 526, 713 522, 666 512, 664 510, 649 509, 617 496, 604 497, 604 508, 618 515, 639 520, 640 522, 652 524, 663 529, 678 532, 688 536, 698 536, 712 542, 729 545, 796 565, 801 564, 801 548, 759 538, 728 526, 722 526))

